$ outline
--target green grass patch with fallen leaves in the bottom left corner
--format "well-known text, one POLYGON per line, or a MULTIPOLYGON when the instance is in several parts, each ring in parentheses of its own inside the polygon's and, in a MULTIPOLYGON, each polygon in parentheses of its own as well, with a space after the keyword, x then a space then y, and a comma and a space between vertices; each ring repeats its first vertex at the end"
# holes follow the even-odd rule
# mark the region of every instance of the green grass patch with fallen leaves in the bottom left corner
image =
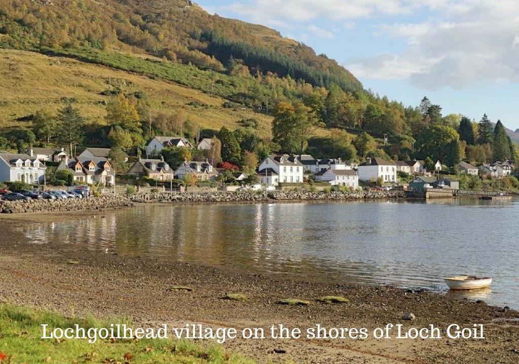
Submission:
POLYGON ((67 318, 49 312, 0 304, 0 352, 7 356, 2 362, 253 363, 241 356, 226 353, 221 346, 212 343, 201 345, 185 340, 142 339, 89 344, 87 340, 78 339, 41 339, 42 324, 48 324, 52 328, 73 327, 75 324, 84 328, 109 327, 109 324, 92 318, 67 318), (127 360, 128 358, 131 359, 127 360))

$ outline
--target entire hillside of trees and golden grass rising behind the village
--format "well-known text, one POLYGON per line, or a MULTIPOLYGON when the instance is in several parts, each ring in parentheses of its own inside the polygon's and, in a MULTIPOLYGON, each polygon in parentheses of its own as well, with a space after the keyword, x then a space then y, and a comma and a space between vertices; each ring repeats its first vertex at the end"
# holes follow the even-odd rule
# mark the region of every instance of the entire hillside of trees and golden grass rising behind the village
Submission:
POLYGON ((224 161, 238 165, 245 153, 305 151, 449 166, 517 159, 486 115, 477 123, 426 97, 419 106, 380 97, 304 44, 188 0, 0 0, 0 48, 11 49, 0 72, 4 149, 64 143, 56 112, 74 104, 76 144, 135 150, 153 135, 219 135, 224 161))

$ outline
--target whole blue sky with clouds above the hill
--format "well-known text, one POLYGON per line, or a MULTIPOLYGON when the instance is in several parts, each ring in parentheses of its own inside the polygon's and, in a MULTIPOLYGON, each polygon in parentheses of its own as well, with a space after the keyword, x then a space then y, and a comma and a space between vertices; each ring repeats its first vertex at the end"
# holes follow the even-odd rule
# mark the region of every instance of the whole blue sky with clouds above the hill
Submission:
POLYGON ((199 0, 349 69, 379 95, 519 128, 518 0, 199 0))

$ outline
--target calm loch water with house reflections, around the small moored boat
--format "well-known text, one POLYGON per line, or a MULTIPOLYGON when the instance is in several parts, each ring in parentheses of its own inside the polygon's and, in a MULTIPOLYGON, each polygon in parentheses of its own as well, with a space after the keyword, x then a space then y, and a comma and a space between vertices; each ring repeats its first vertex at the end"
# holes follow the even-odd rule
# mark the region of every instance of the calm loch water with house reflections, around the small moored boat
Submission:
MULTIPOLYGON (((149 205, 23 224, 27 243, 446 291, 453 273, 493 276, 485 300, 519 307, 516 201, 149 205)), ((483 296, 481 296, 483 297, 483 296)), ((476 298, 482 299, 482 298, 476 298)))

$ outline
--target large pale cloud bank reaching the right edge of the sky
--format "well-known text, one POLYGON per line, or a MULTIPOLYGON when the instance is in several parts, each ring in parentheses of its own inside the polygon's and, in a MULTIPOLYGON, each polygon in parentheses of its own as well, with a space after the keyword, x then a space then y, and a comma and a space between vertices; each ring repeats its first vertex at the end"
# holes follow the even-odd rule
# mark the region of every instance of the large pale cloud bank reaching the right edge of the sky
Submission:
POLYGON ((450 1, 442 10, 441 20, 381 26, 377 34, 403 39, 407 48, 347 67, 361 77, 408 79, 427 89, 519 82, 519 2, 450 1))

